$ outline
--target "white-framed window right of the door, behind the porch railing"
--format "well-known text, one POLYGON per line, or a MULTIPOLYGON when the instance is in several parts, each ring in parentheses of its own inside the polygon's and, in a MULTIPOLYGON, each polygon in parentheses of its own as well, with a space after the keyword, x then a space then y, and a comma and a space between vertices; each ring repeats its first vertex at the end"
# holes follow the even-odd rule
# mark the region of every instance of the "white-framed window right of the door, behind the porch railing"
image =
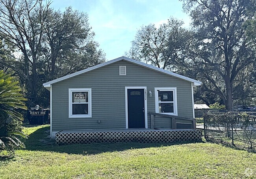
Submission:
POLYGON ((178 115, 177 88, 155 88, 156 113, 178 115))

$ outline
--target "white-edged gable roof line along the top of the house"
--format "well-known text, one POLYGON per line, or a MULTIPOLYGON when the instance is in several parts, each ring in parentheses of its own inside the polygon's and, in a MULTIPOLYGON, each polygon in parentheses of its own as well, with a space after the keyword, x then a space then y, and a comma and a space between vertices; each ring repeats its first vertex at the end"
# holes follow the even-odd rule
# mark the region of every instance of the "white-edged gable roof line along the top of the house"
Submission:
POLYGON ((167 75, 170 75, 170 76, 173 76, 173 77, 176 77, 176 78, 179 78, 179 79, 183 79, 183 80, 186 80, 186 81, 189 81, 189 82, 193 82, 193 86, 200 86, 202 82, 198 81, 198 80, 194 80, 194 79, 191 79, 191 78, 188 78, 188 77, 184 77, 182 75, 179 75, 179 74, 176 74, 176 73, 173 73, 171 71, 167 71, 167 70, 164 70, 164 69, 161 69, 161 68, 157 68, 155 66, 152 66, 152 65, 149 65, 149 64, 145 64, 143 62, 140 62, 140 61, 137 61, 137 60, 134 60, 134 59, 131 59, 131 58, 128 58, 128 57, 119 57, 119 58, 116 58, 114 60, 110 60, 108 62, 104 62, 102 64, 98 64, 96 66, 93 66, 93 67, 90 67, 90 68, 86 68, 86 69, 83 69, 81 71, 77 71, 75 73, 72 73, 70 75, 66 75, 64 77, 60 77, 58 79, 55 79, 55 80, 52 80, 52 81, 49 81, 49 82, 46 82, 43 84, 43 86, 45 88, 49 88, 51 84, 54 84, 54 83, 57 83, 57 82, 60 82, 60 81, 63 81, 65 79, 69 79, 71 77, 74 77, 74 76, 77 76, 77 75, 80 75, 82 73, 86 73, 86 72, 89 72, 91 70, 94 70, 94 69, 97 69, 97 68, 101 68, 103 66, 106 66, 106 65, 109 65, 109 64, 112 64, 112 63, 115 63, 115 62, 118 62, 118 61, 121 61, 121 60, 125 60, 125 61, 128 61, 128 62, 131 62, 131 63, 134 63, 134 64, 137 64, 139 66, 143 66, 145 68, 149 68, 149 69, 152 69, 152 70, 155 70, 155 71, 159 71, 161 73, 165 73, 167 75))

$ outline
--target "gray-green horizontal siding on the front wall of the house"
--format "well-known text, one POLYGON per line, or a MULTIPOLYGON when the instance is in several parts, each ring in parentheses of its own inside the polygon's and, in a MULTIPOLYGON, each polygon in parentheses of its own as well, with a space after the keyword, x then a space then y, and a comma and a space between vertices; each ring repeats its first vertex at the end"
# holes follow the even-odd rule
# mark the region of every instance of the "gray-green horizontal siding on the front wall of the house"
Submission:
MULTIPOLYGON (((155 87, 177 87, 178 115, 193 117, 191 82, 122 60, 52 84, 52 131, 125 128, 125 86, 152 91, 152 97, 147 94, 148 112, 155 112, 155 87), (120 65, 126 66, 126 76, 119 76, 120 65), (69 88, 92 89, 91 118, 69 118, 69 88)), ((169 128, 171 119, 156 117, 155 124, 169 128)))

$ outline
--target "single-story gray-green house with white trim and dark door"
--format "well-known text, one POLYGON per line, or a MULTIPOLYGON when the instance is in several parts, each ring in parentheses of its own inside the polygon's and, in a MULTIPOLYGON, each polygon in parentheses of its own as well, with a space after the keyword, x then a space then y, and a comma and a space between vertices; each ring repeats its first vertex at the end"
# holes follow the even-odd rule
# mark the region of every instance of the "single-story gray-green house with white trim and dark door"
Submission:
POLYGON ((127 57, 98 64, 43 84, 50 91, 50 135, 195 129, 193 87, 200 84, 127 57))

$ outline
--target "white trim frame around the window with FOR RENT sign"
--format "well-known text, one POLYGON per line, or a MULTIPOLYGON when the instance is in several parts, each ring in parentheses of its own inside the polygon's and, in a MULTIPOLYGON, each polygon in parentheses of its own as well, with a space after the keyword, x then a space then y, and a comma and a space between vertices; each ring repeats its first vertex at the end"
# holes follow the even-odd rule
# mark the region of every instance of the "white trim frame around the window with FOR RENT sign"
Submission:
POLYGON ((91 109, 91 88, 69 88, 69 118, 88 118, 92 117, 91 109), (88 92, 88 114, 72 115, 72 92, 88 92))

